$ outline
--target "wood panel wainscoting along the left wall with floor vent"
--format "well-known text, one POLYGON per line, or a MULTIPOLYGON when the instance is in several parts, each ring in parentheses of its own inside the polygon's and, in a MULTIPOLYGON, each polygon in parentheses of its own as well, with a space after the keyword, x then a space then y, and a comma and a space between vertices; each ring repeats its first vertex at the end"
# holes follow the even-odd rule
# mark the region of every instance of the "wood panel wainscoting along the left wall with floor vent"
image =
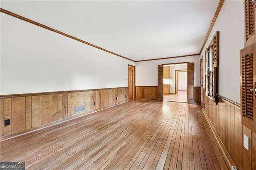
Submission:
POLYGON ((0 96, 1 140, 128 101, 128 87, 0 96), (117 99, 118 97, 118 99, 117 99), (85 111, 74 113, 75 107, 85 111), (10 125, 4 126, 4 120, 10 125))

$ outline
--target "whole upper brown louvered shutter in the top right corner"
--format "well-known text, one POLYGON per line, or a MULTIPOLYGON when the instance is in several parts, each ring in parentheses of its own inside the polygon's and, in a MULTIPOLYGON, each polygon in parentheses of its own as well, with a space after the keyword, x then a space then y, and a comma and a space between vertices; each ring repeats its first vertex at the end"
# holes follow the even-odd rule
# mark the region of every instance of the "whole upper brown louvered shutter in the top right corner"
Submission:
POLYGON ((245 0, 245 40, 246 47, 256 42, 255 36, 255 1, 245 0))

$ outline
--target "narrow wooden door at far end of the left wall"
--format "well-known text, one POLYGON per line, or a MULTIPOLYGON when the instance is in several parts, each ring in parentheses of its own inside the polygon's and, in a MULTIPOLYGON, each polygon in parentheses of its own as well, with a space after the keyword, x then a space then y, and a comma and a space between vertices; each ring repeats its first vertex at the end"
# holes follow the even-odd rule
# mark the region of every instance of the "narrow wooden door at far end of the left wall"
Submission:
POLYGON ((128 65, 128 97, 135 99, 135 66, 128 65))

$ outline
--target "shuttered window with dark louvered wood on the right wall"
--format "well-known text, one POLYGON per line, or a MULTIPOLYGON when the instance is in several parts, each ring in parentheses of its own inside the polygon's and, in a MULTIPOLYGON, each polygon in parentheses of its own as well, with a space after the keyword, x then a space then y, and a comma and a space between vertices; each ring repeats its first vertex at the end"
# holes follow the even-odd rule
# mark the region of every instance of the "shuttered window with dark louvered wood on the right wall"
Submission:
POLYGON ((205 51, 205 90, 206 96, 217 103, 217 71, 219 66, 219 32, 205 51))

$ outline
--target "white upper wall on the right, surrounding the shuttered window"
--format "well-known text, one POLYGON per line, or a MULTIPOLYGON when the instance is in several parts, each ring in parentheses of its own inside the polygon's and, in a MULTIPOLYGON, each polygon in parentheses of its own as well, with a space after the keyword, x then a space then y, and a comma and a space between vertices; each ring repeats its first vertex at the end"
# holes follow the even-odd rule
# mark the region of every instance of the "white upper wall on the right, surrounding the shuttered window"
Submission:
POLYGON ((218 94, 240 103, 239 50, 244 48, 243 1, 224 2, 200 56, 205 55, 205 49, 216 31, 220 32, 218 94))

